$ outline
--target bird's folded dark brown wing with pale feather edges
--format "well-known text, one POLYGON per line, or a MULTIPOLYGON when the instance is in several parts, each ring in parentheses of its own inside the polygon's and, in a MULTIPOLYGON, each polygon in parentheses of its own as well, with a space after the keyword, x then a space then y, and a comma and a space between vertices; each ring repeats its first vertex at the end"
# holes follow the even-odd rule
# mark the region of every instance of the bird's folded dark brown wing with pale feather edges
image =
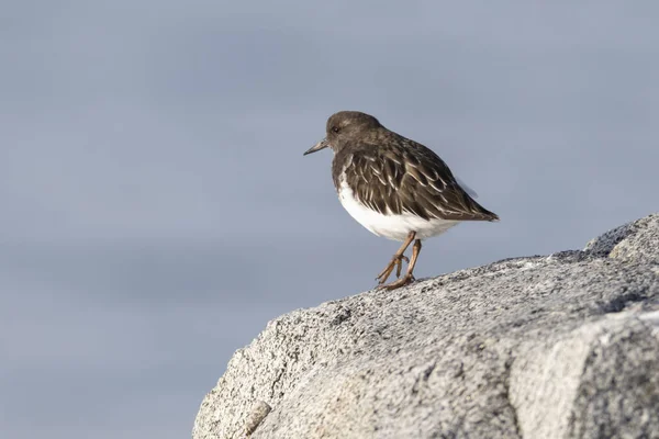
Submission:
POLYGON ((382 214, 412 213, 425 219, 496 221, 456 181, 431 149, 401 136, 392 147, 359 145, 344 167, 354 196, 382 214))

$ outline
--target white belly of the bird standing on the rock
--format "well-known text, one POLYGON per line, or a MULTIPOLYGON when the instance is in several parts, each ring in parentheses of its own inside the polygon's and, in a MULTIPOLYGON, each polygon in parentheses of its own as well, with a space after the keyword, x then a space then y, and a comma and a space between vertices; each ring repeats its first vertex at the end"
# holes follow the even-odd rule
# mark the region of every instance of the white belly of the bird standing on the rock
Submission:
POLYGON ((459 223, 459 221, 450 219, 426 221, 410 213, 383 215, 355 200, 353 190, 345 181, 340 184, 338 199, 344 209, 359 224, 377 236, 383 236, 393 240, 405 240, 412 230, 416 232, 416 239, 429 238, 443 234, 459 223))

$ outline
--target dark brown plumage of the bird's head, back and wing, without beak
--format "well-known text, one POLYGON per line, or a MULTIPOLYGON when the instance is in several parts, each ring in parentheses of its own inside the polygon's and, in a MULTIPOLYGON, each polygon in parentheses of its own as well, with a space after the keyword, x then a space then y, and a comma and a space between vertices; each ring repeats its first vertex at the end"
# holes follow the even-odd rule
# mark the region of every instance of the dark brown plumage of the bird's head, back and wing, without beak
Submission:
POLYGON ((379 213, 409 212, 424 219, 499 219, 465 192, 435 153, 387 130, 368 114, 334 114, 327 122, 327 143, 335 151, 332 178, 336 189, 345 172, 355 198, 379 213))

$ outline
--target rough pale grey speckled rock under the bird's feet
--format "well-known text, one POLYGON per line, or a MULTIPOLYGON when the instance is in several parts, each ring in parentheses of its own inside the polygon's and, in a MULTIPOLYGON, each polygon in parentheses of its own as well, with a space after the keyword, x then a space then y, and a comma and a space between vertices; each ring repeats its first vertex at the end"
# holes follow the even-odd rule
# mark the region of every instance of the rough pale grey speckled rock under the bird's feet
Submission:
POLYGON ((234 354, 192 436, 659 438, 658 255, 655 214, 294 311, 234 354))

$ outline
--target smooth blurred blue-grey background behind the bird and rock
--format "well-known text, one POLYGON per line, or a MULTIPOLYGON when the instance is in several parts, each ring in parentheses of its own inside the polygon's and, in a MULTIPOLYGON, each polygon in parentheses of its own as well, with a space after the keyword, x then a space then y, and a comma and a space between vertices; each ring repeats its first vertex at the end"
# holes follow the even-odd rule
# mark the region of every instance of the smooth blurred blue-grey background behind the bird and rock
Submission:
POLYGON ((417 277, 581 248, 659 209, 655 1, 4 0, 0 436, 188 437, 266 323, 398 244, 336 199, 338 110, 499 213, 417 277))

